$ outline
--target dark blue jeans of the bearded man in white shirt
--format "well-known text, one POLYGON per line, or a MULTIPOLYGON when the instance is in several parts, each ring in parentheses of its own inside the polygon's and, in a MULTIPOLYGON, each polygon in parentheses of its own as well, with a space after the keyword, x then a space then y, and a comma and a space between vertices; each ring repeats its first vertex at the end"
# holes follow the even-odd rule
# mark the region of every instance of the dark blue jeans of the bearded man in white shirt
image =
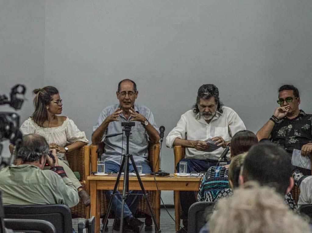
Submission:
MULTIPOLYGON (((180 162, 188 162, 188 173, 191 173, 192 171, 207 171, 209 167, 216 166, 218 161, 211 159, 181 159, 176 167, 178 172, 180 162)), ((182 219, 188 219, 188 209, 194 202, 196 202, 195 191, 180 191, 182 219)))

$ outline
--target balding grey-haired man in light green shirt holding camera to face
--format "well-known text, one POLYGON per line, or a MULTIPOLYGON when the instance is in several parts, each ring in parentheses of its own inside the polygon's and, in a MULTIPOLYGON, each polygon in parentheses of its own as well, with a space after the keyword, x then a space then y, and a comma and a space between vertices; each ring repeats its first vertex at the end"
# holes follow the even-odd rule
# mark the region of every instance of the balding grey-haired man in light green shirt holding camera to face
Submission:
POLYGON ((3 205, 64 204, 73 207, 78 204, 77 189, 63 167, 58 165, 56 150, 49 150, 44 137, 25 135, 22 145, 17 148, 16 159, 20 165, 0 171, 3 205), (51 170, 43 170, 46 163, 51 170))

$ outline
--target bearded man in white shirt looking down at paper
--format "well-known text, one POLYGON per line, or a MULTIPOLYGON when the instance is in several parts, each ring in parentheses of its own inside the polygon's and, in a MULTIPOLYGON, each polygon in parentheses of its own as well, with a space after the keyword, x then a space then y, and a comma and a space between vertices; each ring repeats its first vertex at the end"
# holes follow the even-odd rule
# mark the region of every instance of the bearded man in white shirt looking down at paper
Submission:
MULTIPOLYGON (((246 127, 238 114, 229 107, 223 106, 219 100, 219 90, 213 84, 204 84, 197 92, 196 104, 181 116, 177 126, 171 130, 166 138, 167 147, 183 146, 185 158, 180 162, 188 162, 188 170, 207 171, 210 166, 217 165, 223 148, 231 141, 232 136, 246 127), (209 151, 211 139, 220 146, 209 151)), ((180 163, 179 162, 179 163, 180 163)), ((179 172, 179 163, 177 170, 179 172)), ((180 202, 182 207, 183 226, 179 232, 187 231, 188 209, 196 201, 194 191, 181 191, 180 202)))

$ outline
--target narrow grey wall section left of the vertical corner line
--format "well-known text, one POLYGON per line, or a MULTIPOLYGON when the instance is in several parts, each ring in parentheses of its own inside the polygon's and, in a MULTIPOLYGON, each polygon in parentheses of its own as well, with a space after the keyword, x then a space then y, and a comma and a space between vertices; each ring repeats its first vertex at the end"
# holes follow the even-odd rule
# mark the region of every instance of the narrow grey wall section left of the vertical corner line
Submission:
MULTIPOLYGON (((45 3, 41 0, 0 1, 0 95, 10 96, 15 84, 27 88, 21 122, 33 112, 31 91, 43 86, 45 3)), ((7 106, 0 111, 14 112, 7 106)), ((3 155, 9 155, 8 143, 3 155)))

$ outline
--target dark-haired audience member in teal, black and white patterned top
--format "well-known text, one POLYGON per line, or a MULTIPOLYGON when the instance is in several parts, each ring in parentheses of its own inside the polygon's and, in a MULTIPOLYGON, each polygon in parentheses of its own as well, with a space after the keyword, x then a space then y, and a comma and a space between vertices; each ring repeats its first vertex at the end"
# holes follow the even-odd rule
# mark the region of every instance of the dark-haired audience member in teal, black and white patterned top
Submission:
MULTIPOLYGON (((238 131, 231 140, 231 159, 248 151, 256 143, 258 139, 254 133, 249 130, 238 131)), ((229 186, 229 166, 208 168, 199 187, 198 201, 217 202, 222 197, 232 195, 232 189, 229 186)))

